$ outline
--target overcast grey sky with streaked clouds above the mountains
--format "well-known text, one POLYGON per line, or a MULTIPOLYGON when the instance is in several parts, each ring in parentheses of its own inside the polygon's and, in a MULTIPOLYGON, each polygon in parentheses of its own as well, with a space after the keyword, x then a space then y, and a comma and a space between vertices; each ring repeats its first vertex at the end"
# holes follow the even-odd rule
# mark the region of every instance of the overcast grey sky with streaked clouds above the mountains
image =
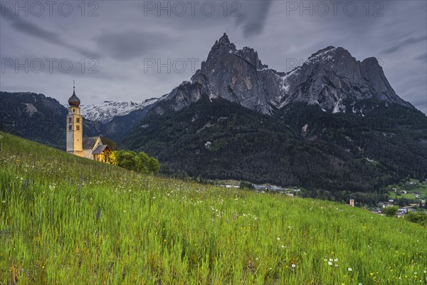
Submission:
POLYGON ((140 102, 189 80, 224 32, 278 71, 327 46, 374 56, 426 112, 424 0, 1 1, 0 90, 66 103, 75 80, 83 104, 140 102))

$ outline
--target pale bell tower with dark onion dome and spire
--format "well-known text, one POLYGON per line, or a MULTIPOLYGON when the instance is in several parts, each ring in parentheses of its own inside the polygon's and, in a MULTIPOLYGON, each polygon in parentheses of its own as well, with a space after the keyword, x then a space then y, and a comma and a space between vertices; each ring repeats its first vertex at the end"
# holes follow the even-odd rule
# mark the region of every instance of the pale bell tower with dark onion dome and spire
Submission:
POLYGON ((80 99, 75 95, 75 82, 73 81, 73 95, 68 99, 67 115, 67 152, 83 156, 83 118, 80 115, 80 99))

